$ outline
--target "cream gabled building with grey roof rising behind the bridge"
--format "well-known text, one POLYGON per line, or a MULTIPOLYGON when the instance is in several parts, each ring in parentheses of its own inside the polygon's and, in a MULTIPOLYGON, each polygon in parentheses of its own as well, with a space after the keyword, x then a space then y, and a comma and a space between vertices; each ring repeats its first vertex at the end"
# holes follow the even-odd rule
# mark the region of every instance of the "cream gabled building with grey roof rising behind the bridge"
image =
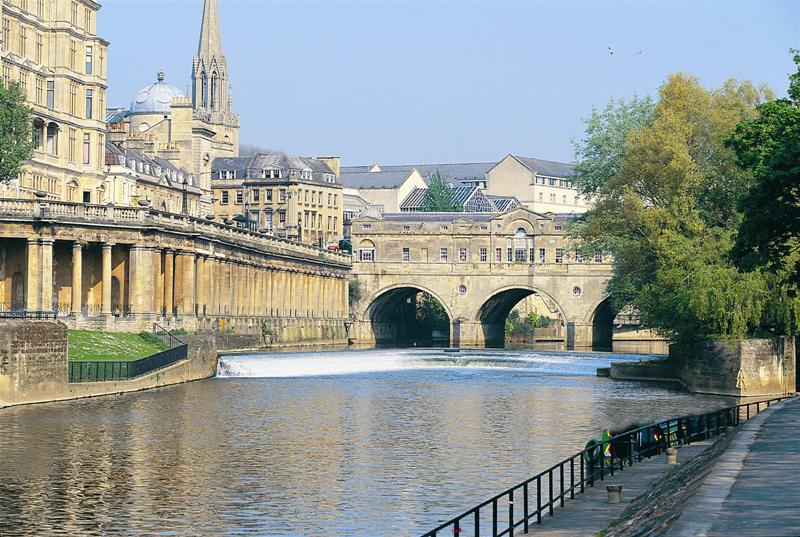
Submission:
POLYGON ((584 213, 591 204, 573 186, 573 173, 571 164, 508 155, 487 172, 486 192, 539 213, 584 213))

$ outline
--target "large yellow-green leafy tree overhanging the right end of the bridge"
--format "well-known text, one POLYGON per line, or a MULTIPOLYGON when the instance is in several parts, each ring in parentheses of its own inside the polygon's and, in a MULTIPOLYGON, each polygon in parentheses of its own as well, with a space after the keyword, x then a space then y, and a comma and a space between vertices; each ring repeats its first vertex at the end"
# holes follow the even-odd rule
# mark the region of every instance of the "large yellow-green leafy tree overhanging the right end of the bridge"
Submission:
POLYGON ((776 321, 785 305, 775 282, 738 271, 728 255, 740 221, 736 199, 749 176, 725 140, 768 96, 749 82, 707 90, 693 77, 672 75, 652 117, 628 130, 621 162, 594 191, 595 206, 577 228, 585 247, 614 256, 609 292, 616 309, 633 305, 647 325, 678 340, 784 326, 776 321))

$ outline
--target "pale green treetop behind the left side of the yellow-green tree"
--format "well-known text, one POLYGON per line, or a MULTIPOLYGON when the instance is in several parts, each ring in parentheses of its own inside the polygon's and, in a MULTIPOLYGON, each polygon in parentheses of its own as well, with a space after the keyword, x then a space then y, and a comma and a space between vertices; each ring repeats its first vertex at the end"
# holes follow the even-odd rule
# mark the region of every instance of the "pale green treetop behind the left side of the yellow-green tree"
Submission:
POLYGON ((655 104, 650 97, 634 95, 630 101, 610 100, 605 108, 592 108, 584 120, 585 137, 576 142, 575 186, 593 194, 615 177, 622 166, 628 135, 652 121, 655 104))

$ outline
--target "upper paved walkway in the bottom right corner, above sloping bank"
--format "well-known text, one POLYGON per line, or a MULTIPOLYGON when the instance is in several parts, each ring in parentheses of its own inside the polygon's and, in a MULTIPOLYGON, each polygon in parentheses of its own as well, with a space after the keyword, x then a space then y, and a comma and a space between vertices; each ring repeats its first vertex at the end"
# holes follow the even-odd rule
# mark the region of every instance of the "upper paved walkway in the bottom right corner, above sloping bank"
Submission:
POLYGON ((668 535, 800 535, 798 432, 798 399, 745 424, 668 535))

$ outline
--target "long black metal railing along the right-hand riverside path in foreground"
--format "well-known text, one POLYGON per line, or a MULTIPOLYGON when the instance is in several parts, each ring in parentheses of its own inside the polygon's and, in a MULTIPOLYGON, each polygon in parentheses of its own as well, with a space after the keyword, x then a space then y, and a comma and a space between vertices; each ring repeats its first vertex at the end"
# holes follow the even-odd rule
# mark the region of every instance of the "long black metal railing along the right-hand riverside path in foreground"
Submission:
POLYGON ((545 471, 507 489, 472 509, 425 533, 422 537, 452 535, 491 535, 512 537, 527 533, 541 524, 543 516, 553 516, 556 507, 564 507, 595 482, 667 448, 708 440, 738 426, 772 403, 793 396, 743 403, 706 414, 682 416, 626 431, 554 464, 545 471))

